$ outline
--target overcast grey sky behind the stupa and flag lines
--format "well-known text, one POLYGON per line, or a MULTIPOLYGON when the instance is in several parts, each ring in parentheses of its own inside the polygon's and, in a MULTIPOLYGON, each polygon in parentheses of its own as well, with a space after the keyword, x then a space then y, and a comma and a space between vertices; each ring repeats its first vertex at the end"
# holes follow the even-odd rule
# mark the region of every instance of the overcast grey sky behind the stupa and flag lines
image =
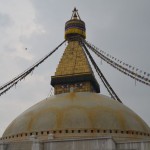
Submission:
MULTIPOLYGON (((150 72, 149 0, 1 0, 0 85, 64 40, 64 25, 74 6, 86 23, 88 41, 114 57, 150 72)), ((0 137, 21 112, 48 97, 50 77, 54 75, 64 49, 65 45, 32 76, 0 97, 0 137)), ((95 59, 123 103, 150 126, 150 87, 141 83, 135 86, 133 79, 95 59)), ((108 95, 99 83, 101 93, 108 95)))

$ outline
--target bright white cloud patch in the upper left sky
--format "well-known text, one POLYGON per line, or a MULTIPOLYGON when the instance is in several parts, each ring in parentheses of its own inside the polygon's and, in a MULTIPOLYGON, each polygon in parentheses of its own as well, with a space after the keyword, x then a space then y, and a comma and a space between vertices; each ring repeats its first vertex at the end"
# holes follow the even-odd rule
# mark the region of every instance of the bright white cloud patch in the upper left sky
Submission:
POLYGON ((9 58, 20 57, 26 60, 32 60, 33 55, 25 51, 26 45, 24 39, 29 39, 33 34, 43 34, 45 31, 40 24, 36 23, 35 10, 30 0, 18 2, 18 0, 2 1, 0 5, 0 14, 7 15, 11 26, 3 28, 3 34, 0 38, 1 50, 7 52, 9 58), (8 50, 7 50, 8 49, 8 50))

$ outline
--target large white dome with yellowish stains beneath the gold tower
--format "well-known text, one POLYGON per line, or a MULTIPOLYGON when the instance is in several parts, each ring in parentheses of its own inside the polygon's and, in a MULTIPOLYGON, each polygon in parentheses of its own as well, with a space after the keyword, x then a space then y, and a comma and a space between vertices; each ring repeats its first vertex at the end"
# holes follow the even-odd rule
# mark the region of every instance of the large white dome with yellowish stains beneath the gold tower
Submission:
MULTIPOLYGON (((125 133, 127 137, 150 133, 148 125, 125 105, 101 94, 78 92, 59 94, 37 103, 18 116, 3 137, 33 132, 57 133, 58 137, 72 132, 74 137, 73 133, 82 130, 93 130, 88 134, 92 136, 100 136, 101 131, 109 135, 125 133)), ((77 135, 85 134, 77 132, 77 135)))

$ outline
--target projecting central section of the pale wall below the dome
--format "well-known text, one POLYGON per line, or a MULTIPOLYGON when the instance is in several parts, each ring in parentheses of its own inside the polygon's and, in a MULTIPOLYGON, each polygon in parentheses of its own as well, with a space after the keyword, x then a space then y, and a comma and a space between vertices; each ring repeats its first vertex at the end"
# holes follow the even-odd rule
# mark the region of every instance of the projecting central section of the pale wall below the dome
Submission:
POLYGON ((110 138, 48 141, 44 150, 114 150, 115 143, 110 138))

